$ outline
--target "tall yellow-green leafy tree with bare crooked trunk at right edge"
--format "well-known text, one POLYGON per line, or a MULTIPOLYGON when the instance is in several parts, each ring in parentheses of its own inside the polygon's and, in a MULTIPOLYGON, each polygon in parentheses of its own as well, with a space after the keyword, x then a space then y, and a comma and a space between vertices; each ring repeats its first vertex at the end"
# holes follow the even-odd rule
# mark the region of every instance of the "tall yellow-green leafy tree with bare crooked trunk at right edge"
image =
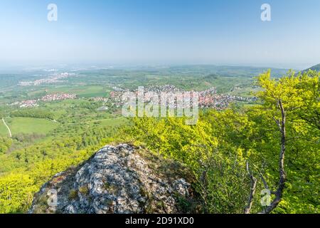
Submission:
MULTIPOLYGON (((282 201, 286 187, 287 175, 284 157, 289 141, 286 128, 287 117, 289 117, 290 136, 292 137, 290 149, 295 150, 299 143, 305 143, 304 141, 308 140, 304 138, 305 135, 319 140, 314 132, 319 130, 319 73, 309 71, 295 75, 294 72, 289 72, 287 76, 276 81, 270 78, 270 71, 268 71, 258 78, 258 83, 264 89, 258 94, 263 102, 261 108, 267 110, 267 116, 272 116, 280 135, 279 182, 277 190, 271 191, 274 199, 262 211, 263 213, 270 213, 282 201), (277 116, 280 117, 277 118, 277 116), (299 134, 301 132, 303 134, 299 134)), ((306 152, 316 152, 312 146, 308 149, 309 151, 306 150, 304 156, 306 152)), ((313 155, 314 159, 319 161, 319 156, 313 155)), ((307 170, 304 170, 304 172, 307 172, 307 170)))

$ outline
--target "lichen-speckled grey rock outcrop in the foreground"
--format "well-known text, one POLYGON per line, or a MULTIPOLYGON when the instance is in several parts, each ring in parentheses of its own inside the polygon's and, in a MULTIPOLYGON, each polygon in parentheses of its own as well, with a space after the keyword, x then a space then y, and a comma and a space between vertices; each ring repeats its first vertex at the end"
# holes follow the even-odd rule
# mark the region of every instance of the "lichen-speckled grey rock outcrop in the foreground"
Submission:
POLYGON ((106 146, 80 167, 61 172, 43 185, 30 212, 179 212, 178 199, 190 197, 191 185, 161 172, 131 145, 106 146))

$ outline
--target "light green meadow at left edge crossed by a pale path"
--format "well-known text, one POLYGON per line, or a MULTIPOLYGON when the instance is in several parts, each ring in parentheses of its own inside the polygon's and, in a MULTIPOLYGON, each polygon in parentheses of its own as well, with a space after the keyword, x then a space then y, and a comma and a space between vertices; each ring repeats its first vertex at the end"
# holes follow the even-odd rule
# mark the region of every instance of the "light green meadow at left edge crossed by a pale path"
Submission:
MULTIPOLYGON (((51 130, 58 127, 58 123, 54 123, 50 120, 37 119, 37 118, 6 118, 6 123, 11 129, 12 135, 18 133, 38 133, 47 134, 51 130)), ((0 134, 8 135, 8 130, 1 121, 0 134)))

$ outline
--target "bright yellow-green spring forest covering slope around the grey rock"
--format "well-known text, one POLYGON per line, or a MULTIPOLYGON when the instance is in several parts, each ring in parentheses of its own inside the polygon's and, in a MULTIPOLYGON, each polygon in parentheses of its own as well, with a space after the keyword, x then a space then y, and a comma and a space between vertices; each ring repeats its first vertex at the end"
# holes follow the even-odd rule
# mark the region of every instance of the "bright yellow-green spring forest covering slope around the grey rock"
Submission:
POLYGON ((204 110, 196 125, 183 118, 132 118, 120 129, 95 125, 12 152, 11 139, 1 137, 0 213, 26 212, 53 175, 117 142, 186 165, 201 212, 319 213, 319 75, 289 72, 272 79, 270 71, 263 73, 256 105, 204 110))

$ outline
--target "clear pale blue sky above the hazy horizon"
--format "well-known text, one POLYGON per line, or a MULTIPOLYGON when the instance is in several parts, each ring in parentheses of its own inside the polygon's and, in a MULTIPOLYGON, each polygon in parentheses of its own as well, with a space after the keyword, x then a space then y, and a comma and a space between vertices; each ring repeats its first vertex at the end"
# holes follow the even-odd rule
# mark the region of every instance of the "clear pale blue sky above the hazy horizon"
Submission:
POLYGON ((1 0, 0 67, 320 63, 319 0, 1 0), (270 4, 271 21, 260 7, 270 4), (48 21, 48 4, 58 20, 48 21))

